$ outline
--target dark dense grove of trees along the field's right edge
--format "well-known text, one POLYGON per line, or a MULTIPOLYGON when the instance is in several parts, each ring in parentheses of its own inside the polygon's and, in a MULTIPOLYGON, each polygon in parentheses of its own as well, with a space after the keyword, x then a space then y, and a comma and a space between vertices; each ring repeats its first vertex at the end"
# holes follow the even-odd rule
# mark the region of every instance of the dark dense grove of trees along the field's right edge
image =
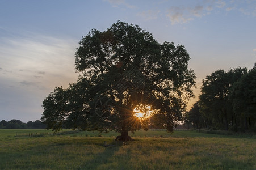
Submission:
POLYGON ((214 71, 201 92, 185 122, 196 129, 256 131, 256 63, 251 70, 214 71))

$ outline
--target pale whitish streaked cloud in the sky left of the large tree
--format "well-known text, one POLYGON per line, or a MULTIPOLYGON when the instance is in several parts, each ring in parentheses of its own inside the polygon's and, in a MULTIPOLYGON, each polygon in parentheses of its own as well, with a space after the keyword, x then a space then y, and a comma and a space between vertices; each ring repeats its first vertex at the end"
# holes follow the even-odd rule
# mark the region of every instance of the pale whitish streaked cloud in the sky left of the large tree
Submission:
POLYGON ((78 42, 71 39, 56 39, 33 33, 5 37, 0 41, 0 60, 1 67, 8 68, 5 70, 8 72, 2 76, 8 76, 23 86, 32 85, 39 76, 44 80, 40 85, 48 89, 61 86, 60 83, 68 85, 77 78, 74 70, 77 46, 78 42))

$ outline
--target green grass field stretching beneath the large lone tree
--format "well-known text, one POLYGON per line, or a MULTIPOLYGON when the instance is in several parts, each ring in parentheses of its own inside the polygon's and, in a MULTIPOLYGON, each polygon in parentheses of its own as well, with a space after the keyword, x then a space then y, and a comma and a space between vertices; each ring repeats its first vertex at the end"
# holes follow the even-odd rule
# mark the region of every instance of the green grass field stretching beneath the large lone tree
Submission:
POLYGON ((0 129, 0 169, 256 169, 255 136, 137 131, 123 143, 114 132, 24 135, 45 131, 0 129))

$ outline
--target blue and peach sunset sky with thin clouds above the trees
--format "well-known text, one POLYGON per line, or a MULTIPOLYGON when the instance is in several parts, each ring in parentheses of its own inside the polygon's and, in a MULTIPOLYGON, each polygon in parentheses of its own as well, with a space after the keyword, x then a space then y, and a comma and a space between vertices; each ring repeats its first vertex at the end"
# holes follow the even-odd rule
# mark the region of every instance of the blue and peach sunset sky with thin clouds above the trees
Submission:
POLYGON ((0 0, 0 121, 40 120, 42 101, 78 79, 74 54, 93 28, 118 20, 184 45, 202 79, 256 62, 256 0, 0 0))

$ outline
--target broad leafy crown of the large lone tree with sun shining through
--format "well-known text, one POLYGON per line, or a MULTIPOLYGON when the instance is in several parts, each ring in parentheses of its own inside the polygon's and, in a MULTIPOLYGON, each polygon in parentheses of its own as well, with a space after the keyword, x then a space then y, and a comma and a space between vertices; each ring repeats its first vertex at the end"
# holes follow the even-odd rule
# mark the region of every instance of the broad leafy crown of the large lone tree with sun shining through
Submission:
POLYGON ((147 129, 149 118, 137 118, 134 110, 150 108, 158 126, 172 131, 194 97, 189 59, 184 46, 160 44, 137 25, 119 21, 103 32, 91 29, 75 53, 77 83, 46 97, 41 120, 53 130, 65 125, 123 135, 147 129))

